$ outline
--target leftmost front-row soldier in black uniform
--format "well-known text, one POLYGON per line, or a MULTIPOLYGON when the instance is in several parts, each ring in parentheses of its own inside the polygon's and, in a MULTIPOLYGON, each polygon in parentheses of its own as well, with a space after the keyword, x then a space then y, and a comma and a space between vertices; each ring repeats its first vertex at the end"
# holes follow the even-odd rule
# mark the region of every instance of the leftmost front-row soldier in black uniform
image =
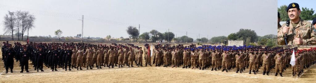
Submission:
POLYGON ((13 73, 12 69, 13 69, 13 58, 15 56, 15 51, 12 48, 11 44, 7 44, 7 46, 9 47, 9 49, 5 50, 5 60, 4 60, 4 64, 5 64, 5 73, 8 73, 8 69, 10 67, 10 71, 11 73, 13 73))

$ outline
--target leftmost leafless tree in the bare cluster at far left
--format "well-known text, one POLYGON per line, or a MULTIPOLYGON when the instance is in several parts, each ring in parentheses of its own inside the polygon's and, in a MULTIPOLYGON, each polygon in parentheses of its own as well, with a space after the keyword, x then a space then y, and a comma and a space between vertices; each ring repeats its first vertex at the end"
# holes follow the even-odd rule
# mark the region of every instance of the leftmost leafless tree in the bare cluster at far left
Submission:
POLYGON ((13 34, 15 31, 15 20, 16 17, 14 15, 14 12, 8 11, 8 14, 4 16, 4 33, 11 33, 12 34, 12 41, 13 41, 13 34))

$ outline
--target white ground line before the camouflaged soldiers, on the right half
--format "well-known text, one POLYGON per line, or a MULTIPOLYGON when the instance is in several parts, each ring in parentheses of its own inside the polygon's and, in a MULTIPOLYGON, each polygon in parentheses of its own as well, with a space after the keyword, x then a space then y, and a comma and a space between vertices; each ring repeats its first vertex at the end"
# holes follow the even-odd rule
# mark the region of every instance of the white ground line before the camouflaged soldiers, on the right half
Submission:
MULTIPOLYGON (((160 69, 169 70, 170 71, 169 68, 168 69, 167 68, 160 68, 160 69)), ((175 70, 173 69, 171 71, 175 71, 175 70)), ((290 78, 284 78, 284 77, 274 78, 274 77, 263 77, 263 76, 249 76, 249 75, 241 75, 241 74, 224 74, 224 73, 217 73, 217 72, 210 72, 210 71, 197 71, 197 70, 194 70, 192 72, 205 73, 205 74, 215 74, 215 75, 224 75, 224 76, 233 76, 233 77, 245 77, 245 78, 277 79, 277 80, 290 79, 290 78), (208 73, 206 73, 206 72, 208 72, 208 73), (240 75, 240 76, 236 76, 236 75, 240 75), (280 79, 280 78, 282 78, 282 79, 280 79)), ((290 79, 290 80, 293 80, 293 79, 290 79)))

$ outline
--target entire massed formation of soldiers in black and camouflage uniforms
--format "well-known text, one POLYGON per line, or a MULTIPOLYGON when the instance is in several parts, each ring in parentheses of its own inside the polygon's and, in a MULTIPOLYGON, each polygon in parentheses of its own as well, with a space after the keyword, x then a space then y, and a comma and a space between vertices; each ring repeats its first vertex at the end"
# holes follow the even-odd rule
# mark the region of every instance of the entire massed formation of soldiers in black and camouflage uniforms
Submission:
POLYGON ((63 68, 65 71, 72 68, 82 70, 82 68, 93 69, 108 67, 119 68, 143 66, 143 56, 145 66, 180 67, 191 69, 207 69, 222 72, 236 68, 236 73, 242 73, 249 69, 249 74, 258 73, 262 67, 263 75, 269 75, 270 70, 275 68, 275 76, 282 73, 286 68, 292 67, 292 76, 299 77, 304 68, 316 62, 316 48, 298 50, 297 48, 283 49, 282 47, 261 47, 261 46, 211 46, 202 45, 197 47, 195 44, 189 46, 162 45, 158 44, 151 51, 149 44, 144 48, 133 44, 94 45, 84 43, 34 43, 30 42, 21 45, 19 42, 14 46, 8 42, 3 42, 2 56, 6 68, 6 73, 10 68, 13 73, 14 58, 20 62, 21 73, 25 69, 28 71, 28 61, 30 60, 37 72, 43 71, 43 66, 58 71, 63 68), (295 50, 296 64, 291 66, 290 59, 295 50), (151 58, 153 61, 151 64, 151 58), (94 65, 95 64, 95 65, 94 65), (295 72, 294 72, 295 71, 295 72))

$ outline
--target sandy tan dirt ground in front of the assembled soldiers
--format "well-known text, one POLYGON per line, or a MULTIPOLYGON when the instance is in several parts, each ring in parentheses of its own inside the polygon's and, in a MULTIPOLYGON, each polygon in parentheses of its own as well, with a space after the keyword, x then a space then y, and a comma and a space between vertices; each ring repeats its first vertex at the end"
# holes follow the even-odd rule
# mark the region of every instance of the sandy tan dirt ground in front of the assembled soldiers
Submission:
MULTIPOLYGON (((143 46, 143 44, 138 44, 143 46)), ((2 59, 2 56, 0 56, 2 59)), ((143 64, 144 64, 143 60, 143 64)), ((30 62, 29 62, 30 63, 30 62)), ((105 83, 135 83, 135 82, 154 82, 154 83, 210 83, 210 82, 234 82, 234 83, 316 83, 316 66, 311 66, 304 69, 305 73, 300 78, 293 78, 291 76, 291 69, 287 68, 284 71, 283 77, 274 76, 274 69, 270 71, 270 75, 262 75, 262 68, 255 74, 248 74, 249 69, 246 69, 242 74, 235 73, 236 69, 231 71, 211 71, 210 68, 206 70, 190 69, 190 68, 171 68, 171 67, 127 67, 124 68, 102 68, 102 69, 88 69, 64 71, 58 68, 58 71, 51 71, 51 69, 44 66, 45 72, 36 72, 32 65, 29 65, 29 73, 20 73, 21 67, 19 63, 14 63, 14 73, 5 74, 3 61, 0 61, 0 82, 70 82, 70 83, 87 83, 87 82, 105 82, 105 83)), ((25 71, 24 71, 25 72, 25 71)))

